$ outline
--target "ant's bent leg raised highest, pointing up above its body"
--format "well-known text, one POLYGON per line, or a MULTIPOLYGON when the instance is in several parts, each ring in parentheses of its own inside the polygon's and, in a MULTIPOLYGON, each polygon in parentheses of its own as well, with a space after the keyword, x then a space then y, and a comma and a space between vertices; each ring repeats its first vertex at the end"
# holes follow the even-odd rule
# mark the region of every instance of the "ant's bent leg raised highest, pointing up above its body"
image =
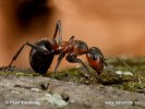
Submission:
POLYGON ((60 20, 57 22, 56 31, 55 31, 55 34, 52 37, 53 45, 55 44, 57 45, 56 37, 57 37, 58 32, 59 32, 58 44, 60 44, 62 41, 62 27, 61 27, 61 21, 60 20))

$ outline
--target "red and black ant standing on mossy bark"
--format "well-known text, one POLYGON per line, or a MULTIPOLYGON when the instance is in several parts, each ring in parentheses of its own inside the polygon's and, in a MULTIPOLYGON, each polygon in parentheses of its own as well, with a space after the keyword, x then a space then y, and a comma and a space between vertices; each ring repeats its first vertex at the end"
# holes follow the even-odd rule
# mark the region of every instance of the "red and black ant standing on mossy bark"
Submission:
POLYGON ((8 66, 12 65, 13 61, 16 60, 25 46, 32 48, 29 52, 29 64, 32 69, 40 74, 47 73, 47 70, 50 68, 56 55, 59 55, 59 57, 55 68, 55 73, 63 58, 71 63, 81 63, 89 73, 85 63, 77 58, 82 55, 86 55, 88 64, 97 72, 98 75, 101 74, 104 65, 106 64, 104 55, 97 47, 88 48, 85 41, 76 40, 74 39, 74 36, 71 36, 68 41, 63 41, 61 21, 57 22, 51 41, 45 38, 36 41, 35 44, 27 41, 17 50, 8 66))

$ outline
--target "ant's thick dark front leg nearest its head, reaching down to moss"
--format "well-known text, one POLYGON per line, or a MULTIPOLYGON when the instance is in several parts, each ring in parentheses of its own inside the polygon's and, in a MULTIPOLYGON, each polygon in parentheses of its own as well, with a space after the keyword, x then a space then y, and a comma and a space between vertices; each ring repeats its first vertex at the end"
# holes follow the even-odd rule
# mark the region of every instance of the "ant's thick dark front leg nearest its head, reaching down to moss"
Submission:
MULTIPOLYGON (((71 62, 71 63, 81 63, 85 69, 86 69, 86 71, 90 74, 90 72, 89 72, 89 70, 87 69, 87 66, 85 65, 85 63, 81 60, 81 59, 78 59, 78 58, 76 58, 76 55, 74 55, 74 53, 69 53, 68 56, 67 56, 67 58, 65 58, 69 62, 71 62)), ((92 75, 92 74, 90 74, 92 75)))

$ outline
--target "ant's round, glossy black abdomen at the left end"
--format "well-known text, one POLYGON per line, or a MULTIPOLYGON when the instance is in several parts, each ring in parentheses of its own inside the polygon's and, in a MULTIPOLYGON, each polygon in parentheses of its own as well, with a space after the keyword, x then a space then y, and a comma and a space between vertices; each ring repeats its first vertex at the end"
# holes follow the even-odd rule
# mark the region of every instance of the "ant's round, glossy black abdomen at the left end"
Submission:
MULTIPOLYGON (((50 52, 52 50, 52 46, 49 40, 41 39, 35 43, 35 46, 41 48, 44 51, 50 52)), ((45 74, 47 70, 50 68, 50 64, 53 60, 52 53, 40 52, 39 50, 33 49, 29 52, 29 64, 33 70, 37 73, 45 74)))

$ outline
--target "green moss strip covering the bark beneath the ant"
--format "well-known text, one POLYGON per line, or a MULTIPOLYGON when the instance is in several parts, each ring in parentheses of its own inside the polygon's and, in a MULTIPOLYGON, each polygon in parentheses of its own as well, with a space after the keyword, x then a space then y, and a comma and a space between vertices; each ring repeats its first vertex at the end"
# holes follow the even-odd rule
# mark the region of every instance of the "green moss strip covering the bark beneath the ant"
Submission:
MULTIPOLYGON (((108 66, 98 76, 96 72, 88 66, 90 75, 83 68, 72 68, 58 71, 53 77, 60 81, 71 81, 83 84, 104 84, 125 89, 130 92, 137 92, 145 89, 145 57, 141 58, 122 58, 122 60, 135 71, 133 75, 119 75, 116 71, 131 72, 126 66, 116 59, 107 60, 108 66)), ((52 74, 53 72, 49 72, 52 74)), ((0 75, 16 75, 16 76, 40 76, 40 74, 33 71, 17 70, 10 68, 10 71, 0 71, 0 75)), ((45 76, 51 76, 49 74, 45 76)))

